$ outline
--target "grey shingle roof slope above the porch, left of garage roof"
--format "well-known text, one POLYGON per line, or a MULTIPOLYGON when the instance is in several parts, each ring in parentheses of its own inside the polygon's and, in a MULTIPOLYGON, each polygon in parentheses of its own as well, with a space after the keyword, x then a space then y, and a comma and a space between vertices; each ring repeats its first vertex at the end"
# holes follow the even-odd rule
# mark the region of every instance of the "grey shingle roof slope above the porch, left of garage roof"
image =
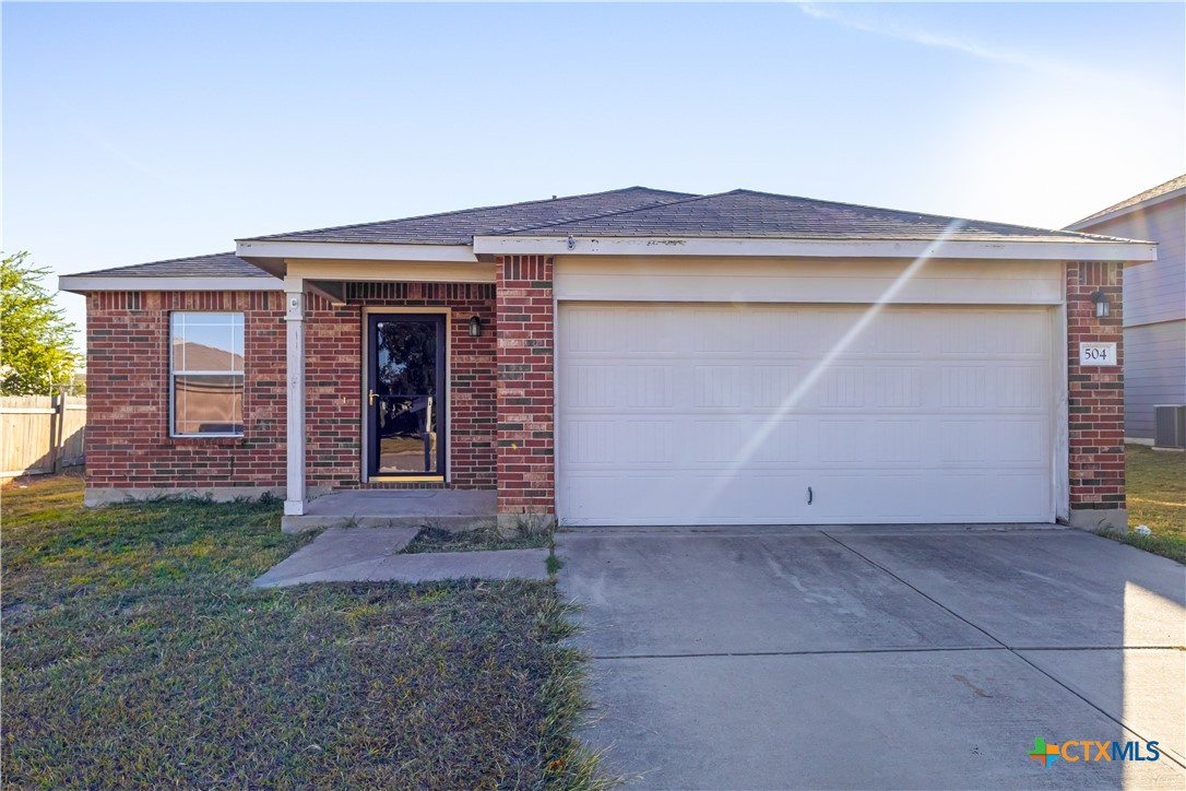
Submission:
POLYGON ((446 211, 406 219, 255 236, 250 241, 470 244, 476 235, 509 234, 516 230, 629 209, 656 206, 693 197, 695 196, 688 192, 632 186, 610 192, 446 211))

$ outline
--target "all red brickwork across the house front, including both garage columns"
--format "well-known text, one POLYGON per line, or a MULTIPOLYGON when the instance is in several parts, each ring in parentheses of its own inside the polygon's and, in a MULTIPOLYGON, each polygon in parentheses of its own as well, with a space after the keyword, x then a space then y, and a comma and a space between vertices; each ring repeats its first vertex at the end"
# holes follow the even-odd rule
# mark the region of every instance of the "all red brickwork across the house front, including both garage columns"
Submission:
MULTIPOLYGON (((311 296, 306 439, 311 493, 363 484, 364 308, 449 311, 449 483, 497 489, 498 512, 555 516, 553 259, 505 256, 496 283, 347 283, 345 305, 311 296), (479 317, 483 334, 468 321, 479 317)), ((1080 342, 1112 342, 1123 363, 1122 268, 1066 267, 1072 511, 1124 508, 1123 368, 1083 366, 1080 342), (1103 291, 1111 315, 1097 319, 1103 291)), ((88 296, 88 489, 256 487, 286 480, 286 332, 279 292, 103 292, 88 296), (246 317, 244 435, 171 438, 168 317, 246 317)), ((1072 517, 1072 522, 1073 522, 1072 517)))

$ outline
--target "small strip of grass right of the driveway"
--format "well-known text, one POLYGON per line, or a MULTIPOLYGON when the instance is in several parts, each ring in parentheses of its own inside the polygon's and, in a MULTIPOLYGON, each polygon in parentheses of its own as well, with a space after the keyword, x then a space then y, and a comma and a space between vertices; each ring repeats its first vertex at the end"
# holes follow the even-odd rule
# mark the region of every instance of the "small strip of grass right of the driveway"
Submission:
POLYGON ((1129 532, 1110 537, 1186 563, 1186 455, 1129 445, 1124 463, 1129 532), (1131 532, 1139 524, 1153 535, 1131 532))

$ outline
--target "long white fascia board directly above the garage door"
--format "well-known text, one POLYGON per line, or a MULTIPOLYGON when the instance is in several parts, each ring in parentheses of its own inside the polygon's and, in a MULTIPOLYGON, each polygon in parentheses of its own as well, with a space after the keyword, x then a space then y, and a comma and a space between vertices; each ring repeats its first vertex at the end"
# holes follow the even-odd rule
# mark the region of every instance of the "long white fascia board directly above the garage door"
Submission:
POLYGON ((720 255, 810 259, 1156 261, 1148 242, 971 242, 700 237, 474 236, 478 255, 720 255))

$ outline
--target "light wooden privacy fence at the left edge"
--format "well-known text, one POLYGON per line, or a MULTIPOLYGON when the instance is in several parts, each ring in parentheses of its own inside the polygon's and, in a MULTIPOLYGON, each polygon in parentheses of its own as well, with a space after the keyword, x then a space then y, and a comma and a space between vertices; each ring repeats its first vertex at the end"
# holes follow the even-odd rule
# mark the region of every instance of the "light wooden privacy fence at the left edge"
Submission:
POLYGON ((83 464, 85 434, 85 398, 0 396, 0 478, 83 464))

